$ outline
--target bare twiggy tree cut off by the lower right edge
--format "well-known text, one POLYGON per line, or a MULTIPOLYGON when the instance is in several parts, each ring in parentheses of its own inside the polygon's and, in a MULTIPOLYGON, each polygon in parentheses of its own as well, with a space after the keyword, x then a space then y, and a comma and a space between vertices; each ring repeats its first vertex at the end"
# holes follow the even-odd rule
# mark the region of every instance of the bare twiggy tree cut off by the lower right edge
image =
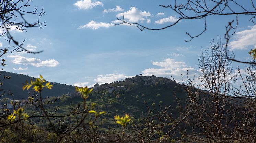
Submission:
POLYGON ((247 67, 244 70, 238 69, 241 85, 234 87, 233 95, 235 102, 245 108, 242 112, 243 118, 237 125, 241 140, 256 142, 256 67, 247 67))

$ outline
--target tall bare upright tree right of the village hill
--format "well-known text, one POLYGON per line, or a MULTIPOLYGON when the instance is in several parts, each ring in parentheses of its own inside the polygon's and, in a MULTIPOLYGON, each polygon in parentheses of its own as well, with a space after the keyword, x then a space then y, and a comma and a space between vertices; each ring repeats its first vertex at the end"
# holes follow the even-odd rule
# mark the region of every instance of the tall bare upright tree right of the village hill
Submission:
POLYGON ((193 79, 188 76, 183 81, 188 93, 187 109, 190 109, 188 122, 192 128, 190 133, 184 134, 187 138, 183 141, 234 142, 238 136, 235 128, 238 110, 231 104, 230 91, 237 74, 232 72, 232 61, 225 59, 222 41, 213 41, 198 57, 198 62, 202 90, 195 88, 193 79))

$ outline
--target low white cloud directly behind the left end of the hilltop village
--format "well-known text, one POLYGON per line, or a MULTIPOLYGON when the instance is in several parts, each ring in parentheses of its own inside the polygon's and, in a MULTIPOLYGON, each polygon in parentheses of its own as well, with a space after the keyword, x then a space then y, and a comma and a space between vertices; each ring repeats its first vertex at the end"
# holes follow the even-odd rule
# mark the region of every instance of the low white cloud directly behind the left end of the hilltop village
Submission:
POLYGON ((126 76, 124 73, 118 74, 118 73, 112 73, 112 74, 105 74, 105 75, 98 75, 96 79, 94 79, 95 82, 98 84, 104 84, 104 83, 112 83, 114 81, 124 80, 125 78, 128 78, 129 76, 126 76))

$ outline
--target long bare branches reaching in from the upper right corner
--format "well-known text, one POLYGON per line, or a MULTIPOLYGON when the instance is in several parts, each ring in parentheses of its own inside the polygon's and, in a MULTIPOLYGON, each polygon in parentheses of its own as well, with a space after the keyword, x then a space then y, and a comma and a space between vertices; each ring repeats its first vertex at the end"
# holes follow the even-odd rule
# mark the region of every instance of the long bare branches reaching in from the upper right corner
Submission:
MULTIPOLYGON (((239 18, 241 16, 247 16, 249 21, 251 21, 254 25, 254 19, 256 18, 256 8, 255 8, 255 1, 247 0, 247 1, 239 1, 239 0, 186 0, 186 1, 173 1, 170 5, 159 5, 162 8, 167 8, 174 11, 178 16, 175 22, 172 24, 161 27, 161 28, 150 28, 146 27, 140 23, 131 23, 126 20, 125 16, 123 15, 123 19, 117 18, 120 24, 129 24, 129 25, 136 25, 141 31, 144 29, 147 30, 164 30, 174 25, 177 25, 181 20, 202 20, 204 22, 203 29, 198 34, 190 34, 186 32, 186 34, 190 37, 190 39, 185 40, 186 42, 191 41, 194 38, 199 37, 207 30, 207 18, 210 16, 228 16, 234 15, 233 20, 227 23, 225 26, 226 33, 225 33, 225 50, 226 50, 226 59, 241 62, 241 63, 249 63, 255 64, 255 62, 248 62, 248 61, 239 61, 234 58, 234 56, 228 56, 228 42, 230 40, 230 32, 234 34, 237 30, 237 26, 239 24, 239 18)), ((249 51, 249 54, 252 56, 253 59, 256 58, 256 49, 253 48, 249 51)))

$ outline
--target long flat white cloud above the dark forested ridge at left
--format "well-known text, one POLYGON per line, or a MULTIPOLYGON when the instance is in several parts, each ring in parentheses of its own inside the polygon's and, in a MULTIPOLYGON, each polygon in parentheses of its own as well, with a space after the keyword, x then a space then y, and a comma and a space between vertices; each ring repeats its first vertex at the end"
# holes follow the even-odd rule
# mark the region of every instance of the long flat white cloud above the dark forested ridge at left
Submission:
POLYGON ((59 65, 59 62, 54 59, 44 60, 36 59, 36 58, 26 58, 21 55, 8 55, 9 58, 14 58, 14 60, 11 60, 14 64, 21 64, 21 65, 33 65, 36 67, 56 67, 59 65))

